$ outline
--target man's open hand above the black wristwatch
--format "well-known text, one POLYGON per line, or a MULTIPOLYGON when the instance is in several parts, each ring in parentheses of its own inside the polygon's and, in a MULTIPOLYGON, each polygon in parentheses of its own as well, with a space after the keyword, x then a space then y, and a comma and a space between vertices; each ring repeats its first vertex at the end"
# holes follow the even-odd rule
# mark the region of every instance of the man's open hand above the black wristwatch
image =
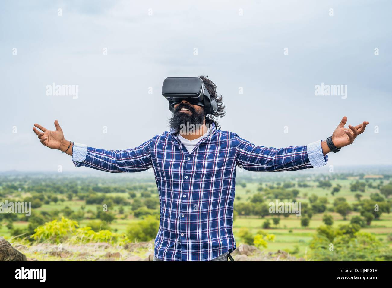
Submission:
POLYGON ((354 139, 363 131, 365 131, 366 125, 369 124, 368 121, 363 121, 361 124, 357 126, 348 125, 348 128, 345 128, 344 125, 347 123, 347 117, 344 116, 340 121, 338 127, 336 127, 335 131, 332 133, 332 142, 337 148, 344 147, 350 145, 354 142, 354 139))

